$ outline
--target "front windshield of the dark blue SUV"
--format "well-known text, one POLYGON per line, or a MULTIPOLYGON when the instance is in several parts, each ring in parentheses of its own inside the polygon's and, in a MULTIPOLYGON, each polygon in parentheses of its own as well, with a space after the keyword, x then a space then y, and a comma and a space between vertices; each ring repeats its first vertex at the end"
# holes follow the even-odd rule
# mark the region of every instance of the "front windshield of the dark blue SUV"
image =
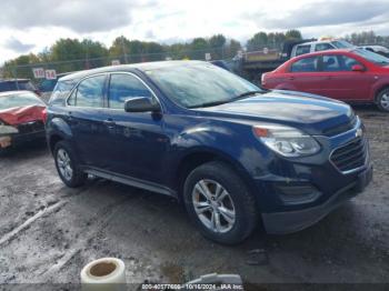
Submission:
POLYGON ((248 92, 265 92, 240 77, 209 63, 190 63, 146 72, 168 97, 184 108, 227 103, 248 92))

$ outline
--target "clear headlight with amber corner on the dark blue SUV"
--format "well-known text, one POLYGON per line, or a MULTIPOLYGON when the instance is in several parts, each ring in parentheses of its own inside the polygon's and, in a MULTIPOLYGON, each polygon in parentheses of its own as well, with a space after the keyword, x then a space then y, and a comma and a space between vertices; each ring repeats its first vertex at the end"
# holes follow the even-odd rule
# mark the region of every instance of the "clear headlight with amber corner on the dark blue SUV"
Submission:
POLYGON ((319 143, 302 131, 283 126, 256 126, 253 134, 283 157, 302 157, 320 151, 319 143))

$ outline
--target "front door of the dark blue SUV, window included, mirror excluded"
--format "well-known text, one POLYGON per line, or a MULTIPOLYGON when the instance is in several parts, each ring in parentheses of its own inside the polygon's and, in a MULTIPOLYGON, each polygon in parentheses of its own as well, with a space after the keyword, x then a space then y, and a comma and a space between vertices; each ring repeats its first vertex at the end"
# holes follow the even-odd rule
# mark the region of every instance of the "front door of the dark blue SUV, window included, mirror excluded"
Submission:
POLYGON ((163 157, 169 141, 163 130, 163 116, 152 112, 126 112, 126 100, 137 97, 157 99, 136 74, 111 74, 108 107, 116 124, 114 139, 110 143, 112 171, 158 183, 161 182, 163 157))

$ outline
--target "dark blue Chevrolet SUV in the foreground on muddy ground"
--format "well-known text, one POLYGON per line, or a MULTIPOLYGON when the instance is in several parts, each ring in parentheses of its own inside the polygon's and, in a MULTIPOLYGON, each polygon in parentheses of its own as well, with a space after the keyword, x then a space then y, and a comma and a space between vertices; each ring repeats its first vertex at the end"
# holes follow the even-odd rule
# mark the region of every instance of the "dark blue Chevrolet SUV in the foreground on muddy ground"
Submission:
POLYGON ((68 187, 88 174, 174 197, 208 238, 288 233, 370 182, 360 119, 342 102, 265 91, 213 64, 167 61, 61 78, 47 139, 68 187))

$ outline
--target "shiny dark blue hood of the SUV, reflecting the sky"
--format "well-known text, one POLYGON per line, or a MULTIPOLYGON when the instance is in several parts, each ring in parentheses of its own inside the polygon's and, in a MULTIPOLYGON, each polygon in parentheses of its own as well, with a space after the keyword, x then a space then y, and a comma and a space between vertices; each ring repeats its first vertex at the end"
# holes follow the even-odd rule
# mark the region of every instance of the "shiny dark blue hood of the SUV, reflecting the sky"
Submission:
POLYGON ((199 109, 202 114, 297 127, 311 134, 336 132, 353 119, 351 108, 329 98, 275 90, 217 107, 199 109))

